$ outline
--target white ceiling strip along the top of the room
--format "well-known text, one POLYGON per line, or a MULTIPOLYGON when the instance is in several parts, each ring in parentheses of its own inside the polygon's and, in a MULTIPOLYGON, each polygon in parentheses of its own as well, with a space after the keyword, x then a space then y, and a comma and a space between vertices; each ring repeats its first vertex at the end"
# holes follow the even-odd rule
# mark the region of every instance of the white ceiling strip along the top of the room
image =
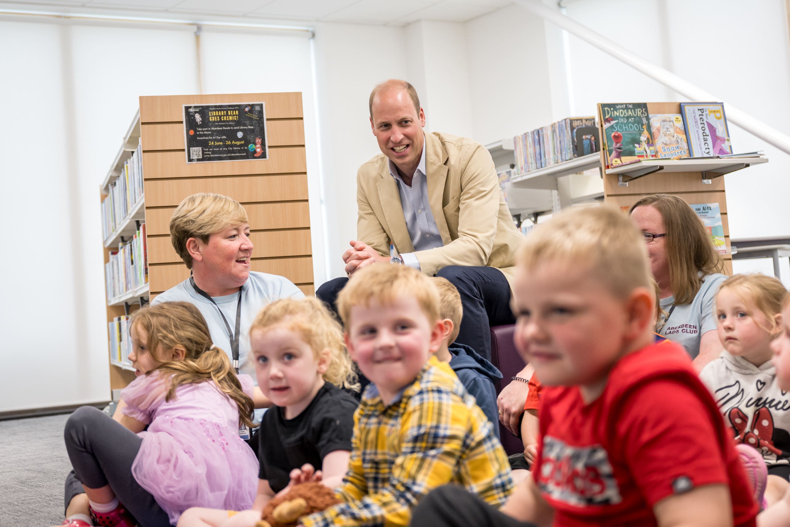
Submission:
POLYGON ((0 0, 2 9, 74 10, 79 13, 171 13, 189 17, 234 17, 252 21, 352 22, 404 25, 418 20, 464 22, 513 0, 0 0))

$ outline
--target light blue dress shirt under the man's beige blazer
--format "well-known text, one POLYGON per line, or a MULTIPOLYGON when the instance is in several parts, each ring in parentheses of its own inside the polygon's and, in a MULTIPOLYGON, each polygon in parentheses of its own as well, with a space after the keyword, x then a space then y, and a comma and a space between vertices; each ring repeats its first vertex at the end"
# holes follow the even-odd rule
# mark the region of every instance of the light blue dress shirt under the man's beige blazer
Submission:
MULTIPOLYGON (((412 239, 414 250, 428 250, 444 247, 442 236, 439 235, 434 213, 428 201, 428 180, 425 173, 425 141, 423 136, 423 154, 412 178, 412 186, 401 179, 392 160, 389 160, 389 175, 397 181, 398 192, 401 194, 401 207, 406 220, 408 235, 412 239)), ((409 267, 419 269, 419 262, 414 253, 401 254, 403 262, 409 267)))

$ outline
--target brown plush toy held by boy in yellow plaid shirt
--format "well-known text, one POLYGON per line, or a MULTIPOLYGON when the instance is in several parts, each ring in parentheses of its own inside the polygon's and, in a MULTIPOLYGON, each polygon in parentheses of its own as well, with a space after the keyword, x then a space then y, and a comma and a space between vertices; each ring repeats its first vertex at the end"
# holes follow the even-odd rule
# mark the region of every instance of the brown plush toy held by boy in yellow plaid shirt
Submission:
POLYGON ((298 484, 267 503, 255 527, 294 527, 303 516, 329 509, 336 503, 340 500, 331 488, 317 482, 298 484))

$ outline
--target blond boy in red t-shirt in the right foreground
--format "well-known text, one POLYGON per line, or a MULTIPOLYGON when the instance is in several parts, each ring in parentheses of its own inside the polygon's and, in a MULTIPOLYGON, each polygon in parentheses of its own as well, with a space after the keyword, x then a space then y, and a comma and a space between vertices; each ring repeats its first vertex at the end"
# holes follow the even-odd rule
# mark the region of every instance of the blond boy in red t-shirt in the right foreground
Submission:
POLYGON ((713 397, 683 348, 653 342, 643 240, 606 206, 529 235, 513 306, 517 348, 544 384, 532 474, 501 510, 437 489, 412 525, 755 525, 713 397))

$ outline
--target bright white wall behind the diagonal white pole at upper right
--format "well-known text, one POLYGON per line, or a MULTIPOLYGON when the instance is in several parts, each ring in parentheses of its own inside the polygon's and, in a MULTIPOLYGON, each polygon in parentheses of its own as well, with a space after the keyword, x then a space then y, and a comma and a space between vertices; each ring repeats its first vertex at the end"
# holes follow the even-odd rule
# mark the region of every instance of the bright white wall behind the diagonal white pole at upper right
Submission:
MULTIPOLYGON (((790 122, 790 40, 781 0, 574 0, 567 14, 777 130, 790 122)), ((680 100, 682 96, 570 37, 574 103, 680 100), (601 73, 609 78, 602 80, 601 73)), ((726 111, 726 105, 725 105, 726 111)), ((733 239, 790 235, 790 156, 738 126, 735 152, 764 150, 769 163, 725 175, 733 239)))

